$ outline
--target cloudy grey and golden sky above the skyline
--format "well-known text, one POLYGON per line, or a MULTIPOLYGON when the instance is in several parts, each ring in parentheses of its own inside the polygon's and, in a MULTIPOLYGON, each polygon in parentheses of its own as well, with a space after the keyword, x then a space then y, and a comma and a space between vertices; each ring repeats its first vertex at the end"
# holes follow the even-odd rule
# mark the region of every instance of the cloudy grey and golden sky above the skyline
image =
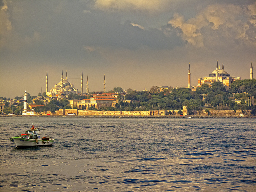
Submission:
MULTIPOLYGON (((191 86, 216 69, 256 69, 255 0, 0 0, 0 96, 191 86)), ((256 77, 256 70, 254 72, 256 77)))

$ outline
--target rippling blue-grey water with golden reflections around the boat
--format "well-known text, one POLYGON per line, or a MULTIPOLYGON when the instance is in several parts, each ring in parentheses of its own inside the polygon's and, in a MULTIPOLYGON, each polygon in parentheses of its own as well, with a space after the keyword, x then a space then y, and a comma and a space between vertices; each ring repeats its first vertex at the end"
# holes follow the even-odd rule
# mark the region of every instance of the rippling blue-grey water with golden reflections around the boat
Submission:
POLYGON ((256 191, 256 121, 0 118, 0 191, 256 191), (17 149, 35 127, 52 147, 17 149))

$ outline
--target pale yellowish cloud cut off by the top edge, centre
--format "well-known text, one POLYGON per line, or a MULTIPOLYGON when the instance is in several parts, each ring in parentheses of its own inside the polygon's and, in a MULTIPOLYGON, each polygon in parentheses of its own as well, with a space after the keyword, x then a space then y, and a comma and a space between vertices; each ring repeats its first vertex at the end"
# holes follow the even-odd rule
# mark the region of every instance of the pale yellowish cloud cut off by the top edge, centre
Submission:
POLYGON ((124 11, 131 10, 145 12, 161 12, 166 10, 168 1, 151 1, 151 0, 97 0, 94 8, 104 11, 124 11))

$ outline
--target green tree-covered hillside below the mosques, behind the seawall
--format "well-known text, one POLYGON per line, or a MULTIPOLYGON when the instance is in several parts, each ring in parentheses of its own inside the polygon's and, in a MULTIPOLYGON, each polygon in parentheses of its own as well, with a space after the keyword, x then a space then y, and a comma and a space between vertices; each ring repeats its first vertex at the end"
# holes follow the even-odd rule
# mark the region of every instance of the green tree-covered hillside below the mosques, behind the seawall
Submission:
MULTIPOLYGON (((198 109, 226 109, 226 110, 251 110, 256 114, 256 106, 252 105, 256 98, 256 80, 237 80, 232 82, 230 88, 226 88, 222 82, 214 82, 212 86, 202 84, 201 87, 192 91, 189 88, 168 88, 160 92, 158 86, 152 86, 150 91, 136 91, 127 89, 125 100, 121 100, 123 90, 120 87, 114 88, 118 93, 118 102, 116 107, 90 108, 90 110, 109 110, 109 111, 148 111, 148 110, 182 110, 182 106, 187 106, 188 112, 193 114, 198 109), (237 102, 239 101, 239 102, 237 102)), ((42 94, 44 95, 44 93, 42 94)), ((51 111, 54 112, 60 108, 71 108, 68 100, 90 99, 92 94, 78 95, 69 94, 68 98, 61 100, 51 100, 45 106, 36 107, 36 112, 51 111)), ((21 97, 16 97, 19 99, 21 97)), ((28 93, 28 104, 32 103, 36 96, 30 96, 28 93)), ((3 98, 2 98, 3 99, 3 98)), ((8 98, 10 100, 10 98, 8 98)), ((35 104, 42 104, 39 100, 34 100, 35 104)), ((18 105, 8 106, 4 113, 15 112, 20 114, 24 108, 24 102, 18 105)), ((84 108, 83 108, 84 109, 84 108)))

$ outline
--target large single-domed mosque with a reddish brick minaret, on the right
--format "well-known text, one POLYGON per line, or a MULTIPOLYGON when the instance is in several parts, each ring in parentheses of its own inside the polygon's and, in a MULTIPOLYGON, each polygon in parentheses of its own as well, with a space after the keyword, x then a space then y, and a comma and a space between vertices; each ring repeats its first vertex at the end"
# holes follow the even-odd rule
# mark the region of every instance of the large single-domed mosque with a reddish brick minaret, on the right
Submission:
MULTIPOLYGON (((190 64, 188 67, 188 88, 191 88, 190 86, 190 64)), ((222 63, 222 68, 218 65, 217 61, 217 66, 216 70, 212 71, 212 73, 209 74, 208 77, 199 77, 198 78, 198 85, 197 87, 200 87, 202 84, 208 84, 209 86, 212 86, 213 82, 219 81, 224 84, 224 86, 229 87, 233 81, 240 80, 241 78, 238 77, 232 77, 226 70, 224 70, 224 64, 222 63)), ((250 68, 250 79, 253 79, 253 72, 252 72, 252 63, 251 63, 251 68, 250 68)))

